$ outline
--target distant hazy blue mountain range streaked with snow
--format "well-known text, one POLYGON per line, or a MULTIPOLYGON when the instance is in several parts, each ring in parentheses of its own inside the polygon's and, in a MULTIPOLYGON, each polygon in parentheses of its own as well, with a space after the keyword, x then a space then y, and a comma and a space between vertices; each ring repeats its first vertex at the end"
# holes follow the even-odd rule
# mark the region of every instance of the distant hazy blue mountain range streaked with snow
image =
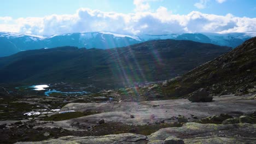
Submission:
POLYGON ((58 46, 77 46, 79 48, 86 47, 87 49, 93 47, 98 49, 110 49, 157 39, 193 40, 201 43, 211 43, 221 46, 236 47, 251 37, 252 34, 245 33, 124 35, 110 32, 68 33, 44 37, 33 34, 0 32, 0 57, 13 55, 14 53, 20 51, 53 48, 58 46))

